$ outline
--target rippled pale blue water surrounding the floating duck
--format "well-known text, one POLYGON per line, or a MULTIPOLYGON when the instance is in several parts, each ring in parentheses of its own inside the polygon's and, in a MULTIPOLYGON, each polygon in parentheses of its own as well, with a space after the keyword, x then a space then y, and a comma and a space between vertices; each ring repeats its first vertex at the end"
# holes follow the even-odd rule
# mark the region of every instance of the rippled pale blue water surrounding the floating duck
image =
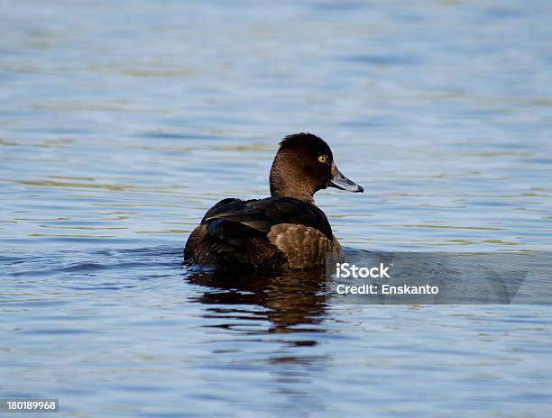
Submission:
POLYGON ((349 250, 549 251, 546 0, 0 3, 0 397, 62 416, 549 416, 545 305, 180 266, 316 132, 349 250))

